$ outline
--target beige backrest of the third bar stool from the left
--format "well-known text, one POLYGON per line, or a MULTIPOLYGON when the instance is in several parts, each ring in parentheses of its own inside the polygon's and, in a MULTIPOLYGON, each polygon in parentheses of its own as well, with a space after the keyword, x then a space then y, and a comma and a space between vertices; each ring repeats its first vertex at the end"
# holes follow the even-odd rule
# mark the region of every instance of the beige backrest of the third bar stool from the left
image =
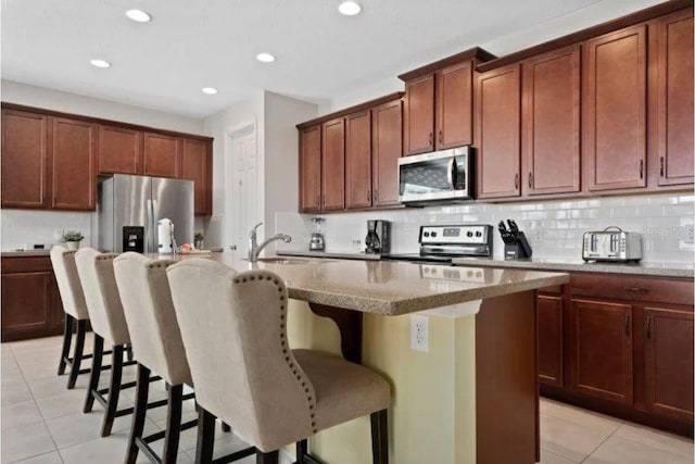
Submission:
POLYGON ((138 363, 169 385, 180 385, 191 383, 191 372, 166 279, 166 267, 174 263, 127 252, 113 267, 138 363))

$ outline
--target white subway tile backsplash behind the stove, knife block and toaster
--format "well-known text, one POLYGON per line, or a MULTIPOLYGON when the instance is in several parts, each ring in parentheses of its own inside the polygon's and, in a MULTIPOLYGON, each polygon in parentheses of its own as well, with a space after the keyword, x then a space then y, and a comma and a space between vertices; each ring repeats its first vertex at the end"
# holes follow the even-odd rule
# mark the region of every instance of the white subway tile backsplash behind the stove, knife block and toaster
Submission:
MULTIPOLYGON (((640 233, 643 261, 649 263, 693 263, 695 196, 685 193, 641 195, 529 203, 470 203, 424 209, 325 214, 326 251, 364 250, 367 220, 391 222, 391 252, 418 250, 419 226, 425 224, 491 224, 494 255, 503 258, 504 244, 496 224, 515 220, 533 248, 534 258, 581 260, 582 234, 618 226, 640 233), (359 244, 357 244, 359 241, 359 244)), ((277 213, 277 231, 293 237, 278 250, 308 250, 311 218, 315 215, 277 213)))

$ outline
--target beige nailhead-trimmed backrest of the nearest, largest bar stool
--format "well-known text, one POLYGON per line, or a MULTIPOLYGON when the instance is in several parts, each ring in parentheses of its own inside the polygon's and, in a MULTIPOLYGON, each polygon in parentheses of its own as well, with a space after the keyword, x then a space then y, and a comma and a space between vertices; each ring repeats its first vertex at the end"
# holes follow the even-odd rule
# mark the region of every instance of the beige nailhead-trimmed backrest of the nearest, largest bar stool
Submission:
POLYGON ((205 259, 166 272, 195 400, 262 450, 311 436, 316 394, 288 347, 282 279, 205 259))

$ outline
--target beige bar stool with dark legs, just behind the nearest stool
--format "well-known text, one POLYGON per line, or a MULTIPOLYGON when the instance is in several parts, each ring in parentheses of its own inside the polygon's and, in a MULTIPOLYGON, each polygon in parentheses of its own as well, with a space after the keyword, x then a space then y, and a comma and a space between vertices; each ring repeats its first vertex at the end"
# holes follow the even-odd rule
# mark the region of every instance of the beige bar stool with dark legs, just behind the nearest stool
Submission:
MULTIPOLYGON (((138 353, 137 397, 126 464, 135 464, 140 449, 152 462, 175 463, 180 431, 198 424, 181 424, 182 403, 193 393, 184 396, 184 384, 192 380, 166 278, 166 267, 174 263, 132 252, 123 253, 113 262, 128 331, 138 353), (150 373, 166 381, 168 413, 164 432, 143 437, 150 373), (149 443, 161 438, 164 451, 157 456, 149 443)), ((253 452, 249 449, 239 457, 253 452)))

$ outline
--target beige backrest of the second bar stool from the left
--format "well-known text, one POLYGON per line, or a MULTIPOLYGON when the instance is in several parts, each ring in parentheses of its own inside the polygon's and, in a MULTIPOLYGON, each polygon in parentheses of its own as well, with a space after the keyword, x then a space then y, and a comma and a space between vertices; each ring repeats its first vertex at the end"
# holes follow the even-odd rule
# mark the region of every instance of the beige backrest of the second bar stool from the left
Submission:
POLYGON ((125 344, 130 342, 130 336, 113 273, 116 256, 83 248, 75 253, 75 264, 92 329, 112 344, 125 344))

